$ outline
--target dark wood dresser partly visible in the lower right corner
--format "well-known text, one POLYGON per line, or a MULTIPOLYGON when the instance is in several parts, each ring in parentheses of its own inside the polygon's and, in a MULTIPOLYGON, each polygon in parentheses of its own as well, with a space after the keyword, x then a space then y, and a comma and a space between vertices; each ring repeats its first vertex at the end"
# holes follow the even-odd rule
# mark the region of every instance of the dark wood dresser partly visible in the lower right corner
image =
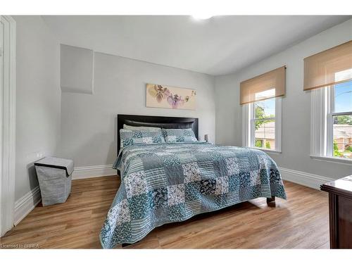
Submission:
POLYGON ((352 175, 320 189, 329 193, 330 248, 352 249, 352 175))

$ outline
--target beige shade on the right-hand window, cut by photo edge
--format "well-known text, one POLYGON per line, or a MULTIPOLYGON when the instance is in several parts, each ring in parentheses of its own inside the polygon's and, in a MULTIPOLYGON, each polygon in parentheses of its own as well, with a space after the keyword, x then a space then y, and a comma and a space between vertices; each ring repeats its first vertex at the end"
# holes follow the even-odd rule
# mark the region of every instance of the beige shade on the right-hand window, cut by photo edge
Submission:
POLYGON ((352 80, 352 41, 304 59, 303 90, 352 80))

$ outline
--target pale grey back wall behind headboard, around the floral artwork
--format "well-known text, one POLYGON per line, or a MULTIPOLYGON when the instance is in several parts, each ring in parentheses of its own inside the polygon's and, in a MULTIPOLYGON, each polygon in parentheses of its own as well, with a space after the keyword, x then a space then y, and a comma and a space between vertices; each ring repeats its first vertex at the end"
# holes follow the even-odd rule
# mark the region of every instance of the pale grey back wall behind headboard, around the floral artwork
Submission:
POLYGON ((116 157, 116 115, 199 118, 199 136, 215 140, 214 77, 95 53, 94 93, 62 93, 61 156, 75 167, 108 165, 116 157), (196 111, 146 108, 146 83, 197 90, 196 111))

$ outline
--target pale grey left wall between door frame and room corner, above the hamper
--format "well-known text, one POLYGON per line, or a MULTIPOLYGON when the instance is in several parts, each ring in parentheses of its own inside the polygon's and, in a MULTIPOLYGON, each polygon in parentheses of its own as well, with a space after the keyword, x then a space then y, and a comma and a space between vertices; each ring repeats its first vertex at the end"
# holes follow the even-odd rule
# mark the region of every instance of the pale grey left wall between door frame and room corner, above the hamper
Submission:
POLYGON ((17 24, 15 199, 38 185, 32 163, 54 155, 60 139, 59 44, 40 16, 17 24))

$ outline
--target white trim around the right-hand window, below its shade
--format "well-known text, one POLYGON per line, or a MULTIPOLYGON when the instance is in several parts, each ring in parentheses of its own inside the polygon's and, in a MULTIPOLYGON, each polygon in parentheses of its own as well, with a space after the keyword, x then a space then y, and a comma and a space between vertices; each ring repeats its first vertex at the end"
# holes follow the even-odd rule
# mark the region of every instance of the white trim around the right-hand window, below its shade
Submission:
MULTIPOLYGON (((347 158, 332 156, 334 89, 323 87, 310 91, 310 158, 352 165, 347 158)), ((350 112, 348 112, 350 113, 350 112)), ((338 113, 339 115, 344 113, 338 113)))

